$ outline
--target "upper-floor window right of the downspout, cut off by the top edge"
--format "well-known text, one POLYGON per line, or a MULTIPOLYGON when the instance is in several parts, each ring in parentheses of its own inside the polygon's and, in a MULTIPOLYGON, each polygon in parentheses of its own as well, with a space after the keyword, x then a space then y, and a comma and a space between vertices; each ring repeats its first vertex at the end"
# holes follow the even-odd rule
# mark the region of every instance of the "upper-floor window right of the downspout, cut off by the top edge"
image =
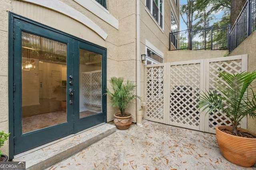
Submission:
POLYGON ((163 0, 146 0, 146 6, 160 27, 163 27, 163 0))

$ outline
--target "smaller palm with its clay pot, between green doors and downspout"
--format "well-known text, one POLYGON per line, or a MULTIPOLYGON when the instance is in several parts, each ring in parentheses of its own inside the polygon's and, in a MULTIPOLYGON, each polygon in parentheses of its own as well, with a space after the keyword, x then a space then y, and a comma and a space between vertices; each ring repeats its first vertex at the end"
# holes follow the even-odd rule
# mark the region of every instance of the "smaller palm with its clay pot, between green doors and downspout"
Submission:
POLYGON ((140 96, 133 94, 136 85, 129 80, 124 83, 123 77, 111 77, 110 84, 112 90, 110 91, 106 88, 104 95, 109 95, 111 100, 110 104, 113 107, 118 107, 120 110, 120 112, 114 114, 114 124, 118 129, 128 129, 132 124, 132 115, 126 113, 125 109, 132 100, 136 100, 136 98, 140 99, 140 96))

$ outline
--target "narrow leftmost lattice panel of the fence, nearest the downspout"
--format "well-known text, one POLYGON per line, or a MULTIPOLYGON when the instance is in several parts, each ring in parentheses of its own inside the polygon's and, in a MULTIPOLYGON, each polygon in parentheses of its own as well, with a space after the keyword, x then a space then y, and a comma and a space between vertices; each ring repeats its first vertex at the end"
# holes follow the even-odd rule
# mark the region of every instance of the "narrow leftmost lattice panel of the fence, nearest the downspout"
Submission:
POLYGON ((164 119, 164 66, 149 67, 146 71, 146 117, 163 122, 164 119))

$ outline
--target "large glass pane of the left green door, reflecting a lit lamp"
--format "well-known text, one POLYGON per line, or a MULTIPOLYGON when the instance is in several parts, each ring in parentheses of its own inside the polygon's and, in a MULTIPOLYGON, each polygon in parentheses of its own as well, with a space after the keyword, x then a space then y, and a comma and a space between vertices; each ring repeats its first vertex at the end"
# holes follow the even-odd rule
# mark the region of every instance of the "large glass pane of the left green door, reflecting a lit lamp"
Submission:
POLYGON ((67 45, 22 32, 22 133, 66 122, 67 45))

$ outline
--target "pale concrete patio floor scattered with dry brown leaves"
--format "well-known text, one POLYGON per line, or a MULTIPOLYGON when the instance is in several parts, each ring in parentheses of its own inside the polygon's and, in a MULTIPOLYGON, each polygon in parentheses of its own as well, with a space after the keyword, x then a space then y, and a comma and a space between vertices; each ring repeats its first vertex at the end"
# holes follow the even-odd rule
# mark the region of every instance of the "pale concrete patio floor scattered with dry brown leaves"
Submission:
POLYGON ((46 170, 252 170, 226 160, 214 134, 143 120, 46 170))

